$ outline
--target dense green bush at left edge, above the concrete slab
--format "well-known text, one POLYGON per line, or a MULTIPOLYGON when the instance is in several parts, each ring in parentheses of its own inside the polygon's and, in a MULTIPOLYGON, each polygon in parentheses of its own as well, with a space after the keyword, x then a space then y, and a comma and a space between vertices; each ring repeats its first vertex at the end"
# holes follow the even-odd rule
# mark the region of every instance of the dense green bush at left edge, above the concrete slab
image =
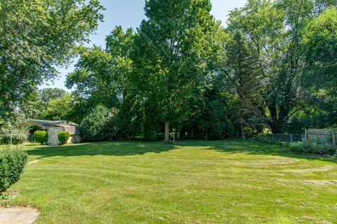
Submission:
POLYGON ((0 193, 20 179, 27 158, 27 153, 18 146, 0 150, 0 193))

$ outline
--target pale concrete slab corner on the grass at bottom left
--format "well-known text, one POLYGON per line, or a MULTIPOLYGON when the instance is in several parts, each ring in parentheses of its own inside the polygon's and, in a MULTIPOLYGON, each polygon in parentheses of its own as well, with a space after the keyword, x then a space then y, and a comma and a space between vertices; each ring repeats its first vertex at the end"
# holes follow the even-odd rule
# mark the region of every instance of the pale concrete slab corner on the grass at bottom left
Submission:
POLYGON ((0 224, 31 224, 39 216, 35 209, 0 208, 0 224))

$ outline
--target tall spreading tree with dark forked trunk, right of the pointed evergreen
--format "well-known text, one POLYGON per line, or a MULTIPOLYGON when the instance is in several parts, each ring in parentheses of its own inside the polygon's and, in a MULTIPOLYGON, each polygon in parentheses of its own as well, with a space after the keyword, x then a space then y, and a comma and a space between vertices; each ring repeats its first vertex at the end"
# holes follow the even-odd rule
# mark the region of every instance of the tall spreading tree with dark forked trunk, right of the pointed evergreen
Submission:
POLYGON ((240 29, 258 53, 260 73, 265 78, 261 94, 273 133, 283 132, 291 115, 301 109, 305 25, 333 3, 249 0, 246 6, 230 13, 228 29, 240 29))

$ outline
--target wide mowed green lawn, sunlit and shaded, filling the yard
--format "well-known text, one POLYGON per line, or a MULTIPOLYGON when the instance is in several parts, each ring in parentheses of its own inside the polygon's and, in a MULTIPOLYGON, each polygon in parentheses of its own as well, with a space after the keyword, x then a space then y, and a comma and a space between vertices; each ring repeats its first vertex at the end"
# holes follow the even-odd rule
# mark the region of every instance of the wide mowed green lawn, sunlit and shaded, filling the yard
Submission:
POLYGON ((337 163, 254 141, 26 146, 36 223, 337 223, 337 163))

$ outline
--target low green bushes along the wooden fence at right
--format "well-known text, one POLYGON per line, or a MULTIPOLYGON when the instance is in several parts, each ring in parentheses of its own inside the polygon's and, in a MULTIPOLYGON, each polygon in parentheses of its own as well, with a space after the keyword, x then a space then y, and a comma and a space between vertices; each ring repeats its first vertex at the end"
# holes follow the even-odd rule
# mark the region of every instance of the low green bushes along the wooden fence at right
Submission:
POLYGON ((294 153, 314 153, 318 155, 333 155, 336 148, 330 144, 320 144, 317 141, 295 142, 290 144, 291 151, 294 153))

